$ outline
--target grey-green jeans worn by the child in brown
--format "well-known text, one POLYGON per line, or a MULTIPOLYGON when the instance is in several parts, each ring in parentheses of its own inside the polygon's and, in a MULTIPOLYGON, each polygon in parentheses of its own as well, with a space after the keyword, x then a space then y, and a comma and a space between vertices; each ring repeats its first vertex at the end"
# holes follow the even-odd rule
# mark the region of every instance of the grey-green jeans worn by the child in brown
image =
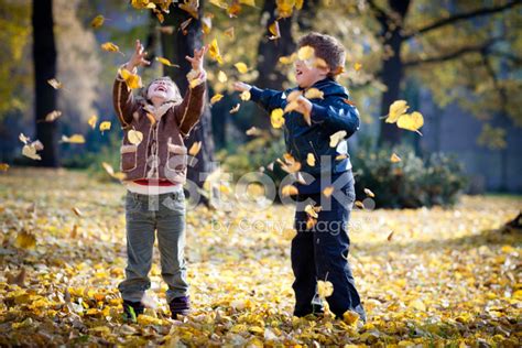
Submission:
POLYGON ((157 230, 161 275, 168 285, 166 298, 186 296, 188 283, 184 259, 185 195, 183 189, 162 195, 140 195, 127 192, 126 280, 118 285, 123 300, 140 302, 151 287, 149 272, 157 230))

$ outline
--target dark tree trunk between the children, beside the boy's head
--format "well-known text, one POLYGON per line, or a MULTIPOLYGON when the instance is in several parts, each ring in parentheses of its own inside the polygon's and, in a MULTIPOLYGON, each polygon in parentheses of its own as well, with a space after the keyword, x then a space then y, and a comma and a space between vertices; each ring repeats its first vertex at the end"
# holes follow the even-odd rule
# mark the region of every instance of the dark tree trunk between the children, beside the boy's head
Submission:
MULTIPOLYGON (((260 88, 281 90, 283 81, 286 80, 286 76, 278 68, 278 62, 281 56, 291 55, 295 51, 295 42, 292 37, 292 17, 279 20, 281 37, 278 40, 269 40, 268 29, 276 20, 276 8, 275 0, 267 0, 261 11, 261 17, 268 12, 270 18, 267 22, 265 35, 263 35, 258 46, 257 69, 259 77, 254 85, 260 88)), ((269 129, 270 118, 267 117, 267 112, 259 108, 255 109, 255 111, 254 126, 269 129)))

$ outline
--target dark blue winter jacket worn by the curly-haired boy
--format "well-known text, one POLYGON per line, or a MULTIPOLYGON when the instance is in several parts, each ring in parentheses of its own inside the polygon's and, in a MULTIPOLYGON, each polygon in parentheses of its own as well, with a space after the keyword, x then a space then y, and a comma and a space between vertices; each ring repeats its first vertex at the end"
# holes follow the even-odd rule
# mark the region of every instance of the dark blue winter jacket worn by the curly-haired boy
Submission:
MULTIPOLYGON (((320 177, 322 172, 330 172, 337 176, 351 170, 348 155, 347 140, 359 130, 359 111, 345 100, 349 100, 348 90, 331 78, 325 78, 315 83, 309 88, 317 88, 323 91, 323 99, 309 99, 313 104, 308 126, 302 113, 292 111, 284 115, 284 140, 286 151, 301 162, 302 172, 309 173, 314 177, 320 177), (330 146, 330 135, 346 131, 346 137, 337 146, 330 146), (306 156, 313 153, 315 165, 306 163, 306 156), (339 156, 342 155, 342 156, 339 156), (322 156, 325 161, 320 161, 322 156), (336 159, 337 157, 337 159, 336 159)), ((255 101, 267 111, 286 106, 286 96, 293 90, 303 90, 294 87, 284 91, 273 89, 250 89, 251 100, 255 101)))

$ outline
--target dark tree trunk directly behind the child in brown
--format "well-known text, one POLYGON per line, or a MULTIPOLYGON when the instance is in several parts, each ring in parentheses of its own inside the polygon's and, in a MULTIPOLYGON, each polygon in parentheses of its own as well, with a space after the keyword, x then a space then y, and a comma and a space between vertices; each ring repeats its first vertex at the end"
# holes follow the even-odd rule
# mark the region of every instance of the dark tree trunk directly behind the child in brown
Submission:
MULTIPOLYGON (((203 1, 199 1, 199 18, 203 15, 202 9, 203 1)), ((178 64, 181 66, 181 68, 165 67, 164 74, 172 77, 180 87, 182 96, 188 88, 186 74, 188 74, 192 68, 191 63, 185 59, 185 56, 193 56, 194 48, 203 46, 200 21, 193 18, 191 24, 186 29, 186 35, 183 34, 182 30, 178 30, 180 24, 189 18, 191 15, 187 12, 178 9, 177 4, 173 4, 171 13, 165 15, 163 24, 175 26, 175 31, 172 35, 165 33, 161 34, 163 55, 173 62, 173 64, 178 64)), ((200 121, 191 131, 188 139, 185 141, 185 145, 191 149, 191 146, 198 141, 202 142, 202 150, 196 155, 197 162, 192 161, 192 165, 188 167, 187 178, 194 182, 198 187, 202 187, 205 180, 202 178, 199 174, 209 173, 211 171, 211 162, 214 161, 211 113, 208 108, 208 102, 205 102, 205 109, 200 121)))

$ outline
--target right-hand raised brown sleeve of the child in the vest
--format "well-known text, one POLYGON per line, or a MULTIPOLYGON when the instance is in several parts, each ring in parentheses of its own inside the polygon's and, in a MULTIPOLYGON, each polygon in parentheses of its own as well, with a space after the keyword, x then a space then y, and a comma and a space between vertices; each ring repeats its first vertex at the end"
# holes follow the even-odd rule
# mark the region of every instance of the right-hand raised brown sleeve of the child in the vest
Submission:
POLYGON ((188 88, 182 104, 176 106, 177 110, 175 112, 177 127, 183 137, 188 135, 203 115, 207 90, 206 78, 205 70, 191 70, 187 74, 188 88))

